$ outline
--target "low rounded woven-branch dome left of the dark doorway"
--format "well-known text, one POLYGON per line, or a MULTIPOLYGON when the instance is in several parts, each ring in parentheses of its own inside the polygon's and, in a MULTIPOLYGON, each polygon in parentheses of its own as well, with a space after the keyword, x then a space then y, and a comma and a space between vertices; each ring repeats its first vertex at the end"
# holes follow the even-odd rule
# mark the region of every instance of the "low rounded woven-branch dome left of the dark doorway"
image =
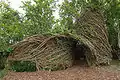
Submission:
POLYGON ((13 53, 8 60, 31 61, 37 69, 59 70, 72 66, 74 41, 65 36, 35 35, 12 45, 13 53))

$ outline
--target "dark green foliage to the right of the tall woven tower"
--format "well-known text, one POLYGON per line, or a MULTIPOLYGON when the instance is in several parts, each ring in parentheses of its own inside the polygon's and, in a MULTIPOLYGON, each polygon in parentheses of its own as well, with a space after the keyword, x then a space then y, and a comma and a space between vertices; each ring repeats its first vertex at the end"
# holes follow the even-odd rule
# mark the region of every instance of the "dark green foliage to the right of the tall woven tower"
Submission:
POLYGON ((107 26, 109 32, 109 41, 113 48, 118 47, 119 40, 119 31, 120 31, 120 1, 119 0, 111 0, 106 7, 106 17, 107 17, 107 26))

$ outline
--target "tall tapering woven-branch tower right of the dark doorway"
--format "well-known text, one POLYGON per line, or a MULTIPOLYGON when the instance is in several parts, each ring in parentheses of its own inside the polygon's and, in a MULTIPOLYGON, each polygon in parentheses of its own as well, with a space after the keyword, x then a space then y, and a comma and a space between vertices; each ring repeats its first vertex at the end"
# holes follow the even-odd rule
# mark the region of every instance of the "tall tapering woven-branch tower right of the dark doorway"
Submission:
POLYGON ((86 53, 89 65, 110 64, 112 54, 107 28, 100 10, 87 8, 76 20, 76 34, 90 51, 86 53))

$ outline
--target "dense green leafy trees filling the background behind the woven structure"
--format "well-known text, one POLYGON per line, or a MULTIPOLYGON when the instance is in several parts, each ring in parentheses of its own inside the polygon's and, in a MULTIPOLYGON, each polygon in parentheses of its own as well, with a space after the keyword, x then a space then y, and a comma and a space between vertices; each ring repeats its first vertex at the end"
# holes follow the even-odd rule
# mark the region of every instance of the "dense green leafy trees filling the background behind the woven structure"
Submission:
MULTIPOLYGON (((33 0, 22 2, 20 14, 9 2, 0 2, 0 57, 8 56, 10 45, 35 34, 75 34, 75 22, 87 7, 101 10, 106 22, 109 43, 114 53, 120 49, 120 0, 33 0), (59 8, 59 19, 53 12, 59 8)), ((118 55, 117 55, 118 56, 118 55)))

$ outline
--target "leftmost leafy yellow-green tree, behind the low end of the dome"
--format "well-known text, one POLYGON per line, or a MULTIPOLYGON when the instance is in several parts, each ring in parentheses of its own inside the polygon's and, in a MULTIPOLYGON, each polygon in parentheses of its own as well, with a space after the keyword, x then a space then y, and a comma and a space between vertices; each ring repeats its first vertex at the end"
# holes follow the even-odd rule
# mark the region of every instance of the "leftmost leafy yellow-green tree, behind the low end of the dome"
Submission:
POLYGON ((19 13, 8 3, 0 2, 0 51, 23 39, 19 13))

